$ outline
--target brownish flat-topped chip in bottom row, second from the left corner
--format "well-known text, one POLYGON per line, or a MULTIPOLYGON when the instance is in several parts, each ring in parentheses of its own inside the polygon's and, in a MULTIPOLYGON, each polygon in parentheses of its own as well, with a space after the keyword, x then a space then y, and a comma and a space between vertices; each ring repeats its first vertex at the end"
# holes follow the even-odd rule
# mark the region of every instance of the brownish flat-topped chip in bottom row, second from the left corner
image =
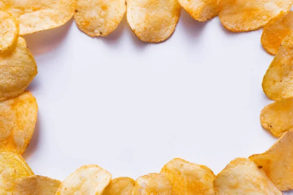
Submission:
POLYGON ((61 181, 50 177, 31 175, 16 180, 13 195, 55 195, 61 181))

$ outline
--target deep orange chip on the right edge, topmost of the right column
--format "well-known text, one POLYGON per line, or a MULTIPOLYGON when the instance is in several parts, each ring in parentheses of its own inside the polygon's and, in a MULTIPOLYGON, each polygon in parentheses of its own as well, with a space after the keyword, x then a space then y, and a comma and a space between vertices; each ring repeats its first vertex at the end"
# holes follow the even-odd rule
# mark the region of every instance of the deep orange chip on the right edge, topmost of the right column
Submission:
POLYGON ((261 44, 272 55, 276 55, 284 38, 293 32, 293 12, 281 12, 264 27, 261 44))

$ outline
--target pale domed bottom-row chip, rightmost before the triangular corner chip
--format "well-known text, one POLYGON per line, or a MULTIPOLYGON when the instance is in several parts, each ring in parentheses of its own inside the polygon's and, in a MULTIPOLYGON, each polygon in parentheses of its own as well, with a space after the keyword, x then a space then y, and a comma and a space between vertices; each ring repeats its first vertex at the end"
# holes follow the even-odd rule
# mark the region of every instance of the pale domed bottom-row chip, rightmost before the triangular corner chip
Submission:
POLYGON ((248 158, 235 158, 213 181, 216 195, 282 195, 262 167, 248 158))

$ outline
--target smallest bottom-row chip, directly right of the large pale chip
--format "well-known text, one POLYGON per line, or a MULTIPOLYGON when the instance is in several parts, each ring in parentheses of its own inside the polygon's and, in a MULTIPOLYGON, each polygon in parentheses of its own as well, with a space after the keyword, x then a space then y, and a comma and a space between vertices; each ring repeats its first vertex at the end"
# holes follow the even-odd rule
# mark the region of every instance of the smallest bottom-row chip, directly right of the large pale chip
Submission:
POLYGON ((131 195, 134 180, 129 177, 118 177, 112 179, 105 188, 103 195, 131 195))

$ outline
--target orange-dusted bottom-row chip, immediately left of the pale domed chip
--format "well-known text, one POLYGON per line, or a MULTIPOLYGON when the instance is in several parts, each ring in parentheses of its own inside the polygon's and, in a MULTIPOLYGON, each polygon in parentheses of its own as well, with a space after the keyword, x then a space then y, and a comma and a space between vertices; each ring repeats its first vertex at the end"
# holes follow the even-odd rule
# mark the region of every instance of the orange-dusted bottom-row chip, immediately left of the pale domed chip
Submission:
POLYGON ((180 158, 170 160, 161 173, 171 181, 173 195, 214 195, 214 173, 204 165, 190 163, 180 158))

